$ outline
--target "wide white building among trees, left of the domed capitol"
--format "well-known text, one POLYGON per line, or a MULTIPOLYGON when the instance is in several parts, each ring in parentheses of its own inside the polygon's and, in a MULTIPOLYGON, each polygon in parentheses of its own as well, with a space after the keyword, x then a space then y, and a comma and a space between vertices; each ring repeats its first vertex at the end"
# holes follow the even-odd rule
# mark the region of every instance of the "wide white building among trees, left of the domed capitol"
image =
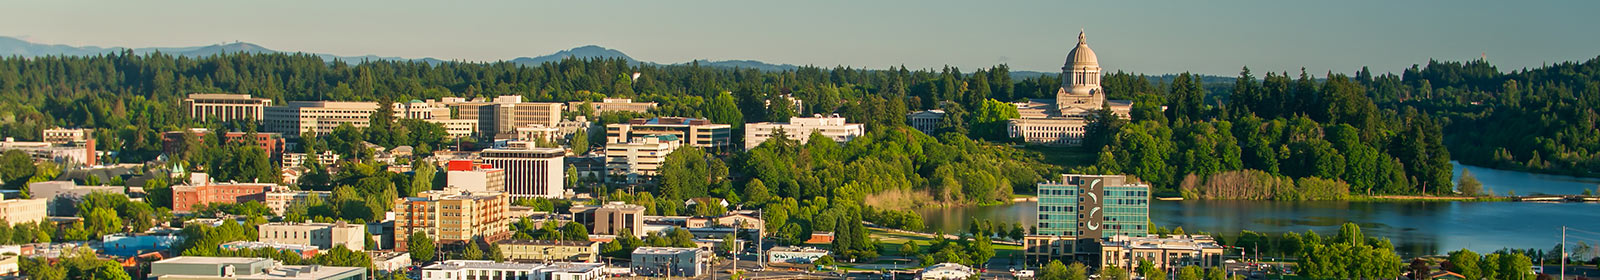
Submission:
POLYGON ((766 139, 776 138, 778 133, 797 142, 806 142, 811 134, 822 134, 834 142, 850 142, 861 134, 867 134, 867 128, 861 123, 845 123, 845 117, 834 114, 830 117, 813 115, 808 118, 790 117, 787 123, 744 123, 744 149, 750 150, 766 139))

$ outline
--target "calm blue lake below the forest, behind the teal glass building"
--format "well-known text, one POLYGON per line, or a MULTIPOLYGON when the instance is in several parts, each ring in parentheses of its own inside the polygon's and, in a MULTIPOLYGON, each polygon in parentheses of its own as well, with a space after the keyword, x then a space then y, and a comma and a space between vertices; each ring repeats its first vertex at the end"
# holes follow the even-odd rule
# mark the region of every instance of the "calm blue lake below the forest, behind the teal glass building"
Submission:
MULTIPOLYGON (((1496 194, 1581 194, 1600 186, 1597 178, 1533 174, 1456 165, 1496 194)), ((971 219, 1034 224, 1037 203, 918 210, 930 230, 966 232, 971 219)), ((1562 226, 1600 232, 1600 203, 1528 202, 1152 202, 1158 227, 1237 235, 1317 230, 1336 234, 1344 222, 1362 226, 1368 237, 1387 237, 1403 256, 1440 254, 1459 248, 1550 250, 1562 226)))

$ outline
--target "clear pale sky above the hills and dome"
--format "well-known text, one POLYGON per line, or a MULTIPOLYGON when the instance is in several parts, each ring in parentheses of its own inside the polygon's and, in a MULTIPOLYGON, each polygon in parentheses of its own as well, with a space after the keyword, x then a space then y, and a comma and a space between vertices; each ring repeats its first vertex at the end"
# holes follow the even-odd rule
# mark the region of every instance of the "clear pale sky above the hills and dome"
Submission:
POLYGON ((1600 2, 214 2, 3 0, 0 35, 35 43, 200 46, 501 61, 582 45, 640 61, 755 59, 885 69, 1056 72, 1077 32, 1106 70, 1237 75, 1400 72, 1483 54, 1501 70, 1600 56, 1600 2))

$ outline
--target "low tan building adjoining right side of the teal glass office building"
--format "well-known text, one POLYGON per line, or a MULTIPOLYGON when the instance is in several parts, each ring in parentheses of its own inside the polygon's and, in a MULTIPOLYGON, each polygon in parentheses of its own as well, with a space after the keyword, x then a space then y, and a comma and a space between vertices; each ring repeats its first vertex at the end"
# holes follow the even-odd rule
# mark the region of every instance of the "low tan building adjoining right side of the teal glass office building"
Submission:
POLYGON ((1174 270, 1184 266, 1222 266, 1222 245, 1206 235, 1128 237, 1117 235, 1099 243, 1099 267, 1134 267, 1150 261, 1155 269, 1174 270))

